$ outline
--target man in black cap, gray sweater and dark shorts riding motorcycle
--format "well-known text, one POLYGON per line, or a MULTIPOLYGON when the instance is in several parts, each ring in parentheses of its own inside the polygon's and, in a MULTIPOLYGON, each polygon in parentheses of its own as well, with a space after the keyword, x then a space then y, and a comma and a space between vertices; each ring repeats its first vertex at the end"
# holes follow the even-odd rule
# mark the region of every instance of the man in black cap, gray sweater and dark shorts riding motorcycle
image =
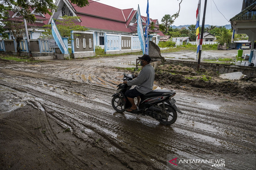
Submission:
POLYGON ((149 55, 143 55, 142 57, 139 57, 140 65, 143 66, 143 69, 140 71, 140 74, 137 76, 135 75, 135 78, 130 81, 124 81, 124 84, 127 84, 128 86, 136 85, 135 88, 128 90, 125 92, 125 96, 127 96, 127 99, 131 102, 132 107, 128 109, 128 112, 132 112, 134 110, 137 110, 137 106, 135 105, 134 98, 138 98, 138 104, 140 100, 140 95, 146 94, 148 92, 151 92, 153 90, 154 85, 154 79, 155 79, 155 70, 154 67, 151 66, 150 61, 151 58, 149 55))

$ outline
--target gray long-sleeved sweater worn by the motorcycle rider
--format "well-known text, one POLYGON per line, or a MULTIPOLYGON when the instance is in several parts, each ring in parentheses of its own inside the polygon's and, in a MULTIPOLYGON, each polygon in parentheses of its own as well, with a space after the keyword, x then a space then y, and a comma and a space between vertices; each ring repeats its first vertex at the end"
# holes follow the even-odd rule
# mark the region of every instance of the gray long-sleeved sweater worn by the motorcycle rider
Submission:
POLYGON ((140 71, 140 74, 138 75, 138 77, 134 78, 131 81, 127 81, 127 85, 129 86, 136 85, 135 88, 138 90, 138 92, 142 94, 146 94, 153 90, 154 79, 155 79, 154 67, 152 67, 151 64, 147 64, 140 71))

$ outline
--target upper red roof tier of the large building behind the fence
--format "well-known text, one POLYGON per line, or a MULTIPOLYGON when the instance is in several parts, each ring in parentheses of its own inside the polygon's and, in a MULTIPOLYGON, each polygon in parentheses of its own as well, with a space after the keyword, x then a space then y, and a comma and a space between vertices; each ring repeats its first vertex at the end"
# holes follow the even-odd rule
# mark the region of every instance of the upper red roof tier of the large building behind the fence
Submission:
POLYGON ((76 6, 76 4, 72 4, 71 2, 70 3, 72 4, 76 12, 126 22, 122 10, 92 0, 88 0, 88 2, 90 3, 90 5, 84 7, 78 7, 76 6))

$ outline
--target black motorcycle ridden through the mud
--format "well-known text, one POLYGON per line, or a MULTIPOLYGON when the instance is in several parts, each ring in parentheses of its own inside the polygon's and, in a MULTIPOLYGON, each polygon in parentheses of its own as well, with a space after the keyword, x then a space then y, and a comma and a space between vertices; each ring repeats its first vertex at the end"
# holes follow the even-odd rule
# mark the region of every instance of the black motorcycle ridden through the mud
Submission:
MULTIPOLYGON (((124 73, 123 80, 132 80, 135 78, 133 75, 134 72, 138 70, 138 67, 136 67, 132 75, 124 73)), ((113 99, 111 103, 116 112, 122 113, 132 107, 132 104, 124 95, 132 86, 122 83, 117 85, 117 87, 116 93, 112 95, 113 99)), ((141 100, 138 109, 130 113, 150 116, 162 124, 171 125, 177 120, 177 112, 183 114, 175 105, 176 100, 173 98, 175 94, 176 90, 152 90, 140 96, 141 100)))

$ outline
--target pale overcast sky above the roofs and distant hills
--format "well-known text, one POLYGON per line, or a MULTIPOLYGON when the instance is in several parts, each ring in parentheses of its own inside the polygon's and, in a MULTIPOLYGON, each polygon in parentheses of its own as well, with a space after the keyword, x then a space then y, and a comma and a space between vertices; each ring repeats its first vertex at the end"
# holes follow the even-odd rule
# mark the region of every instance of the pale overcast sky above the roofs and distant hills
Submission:
MULTIPOLYGON (((165 14, 174 14, 179 10, 179 2, 181 0, 148 0, 149 16, 152 19, 161 19, 165 14)), ((243 0, 207 0, 207 9, 205 16, 205 24, 223 26, 230 24, 217 10, 217 5, 220 12, 229 21, 230 18, 241 12, 243 0)), ((147 0, 100 0, 102 4, 114 6, 119 9, 138 9, 140 5, 140 14, 146 16, 147 0)), ((180 4, 180 16, 175 20, 175 26, 191 25, 196 23, 196 8, 198 0, 183 0, 180 4)), ((201 21, 202 24, 204 10, 204 0, 201 0, 201 21)))

